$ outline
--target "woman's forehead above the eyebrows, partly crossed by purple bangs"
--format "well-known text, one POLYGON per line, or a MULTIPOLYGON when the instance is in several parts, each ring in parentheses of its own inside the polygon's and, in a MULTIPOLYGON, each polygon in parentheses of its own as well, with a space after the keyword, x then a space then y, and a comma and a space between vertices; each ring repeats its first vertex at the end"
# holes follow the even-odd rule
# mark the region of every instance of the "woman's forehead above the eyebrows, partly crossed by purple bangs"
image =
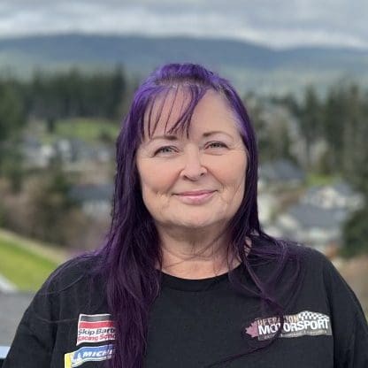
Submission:
POLYGON ((224 130, 238 133, 234 112, 226 98, 216 91, 207 91, 193 108, 194 99, 185 90, 173 90, 158 97, 144 119, 144 135, 187 133, 224 130))

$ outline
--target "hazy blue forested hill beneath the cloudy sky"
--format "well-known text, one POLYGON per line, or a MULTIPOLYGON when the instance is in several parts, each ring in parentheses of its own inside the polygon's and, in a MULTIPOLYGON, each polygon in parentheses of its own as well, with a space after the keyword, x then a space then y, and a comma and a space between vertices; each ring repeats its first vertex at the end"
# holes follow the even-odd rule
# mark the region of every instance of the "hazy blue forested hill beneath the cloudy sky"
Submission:
MULTIPOLYGON (((109 68, 124 65, 147 73, 165 62, 192 61, 225 72, 235 84, 277 88, 300 83, 325 85, 338 78, 363 77, 368 50, 304 47, 285 50, 226 39, 144 37, 137 35, 33 35, 0 38, 0 71, 27 76, 35 68, 55 70, 70 65, 109 68), (276 84, 276 85, 275 85, 276 84), (273 87, 272 87, 273 86, 273 87)), ((366 74, 366 73, 364 73, 366 74)), ((366 78, 366 80, 364 80, 366 78)))

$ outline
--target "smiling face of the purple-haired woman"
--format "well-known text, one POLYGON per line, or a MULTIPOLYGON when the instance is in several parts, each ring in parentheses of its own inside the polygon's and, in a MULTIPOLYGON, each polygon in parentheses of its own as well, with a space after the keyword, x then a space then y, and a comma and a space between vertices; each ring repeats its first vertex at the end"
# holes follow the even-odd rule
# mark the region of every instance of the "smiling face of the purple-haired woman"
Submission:
POLYGON ((182 94, 172 98, 137 152, 143 201, 159 227, 222 228, 245 188, 247 154, 234 114, 210 91, 196 106, 188 136, 167 134, 185 104, 182 94))

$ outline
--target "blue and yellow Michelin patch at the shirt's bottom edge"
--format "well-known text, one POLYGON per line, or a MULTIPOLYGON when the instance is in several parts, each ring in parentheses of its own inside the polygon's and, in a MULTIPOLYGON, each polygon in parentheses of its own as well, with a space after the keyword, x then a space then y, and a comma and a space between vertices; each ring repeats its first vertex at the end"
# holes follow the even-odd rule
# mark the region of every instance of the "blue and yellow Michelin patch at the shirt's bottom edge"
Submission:
POLYGON ((64 368, 78 367, 86 362, 98 362, 110 359, 113 353, 113 345, 88 346, 80 348, 64 356, 64 368))

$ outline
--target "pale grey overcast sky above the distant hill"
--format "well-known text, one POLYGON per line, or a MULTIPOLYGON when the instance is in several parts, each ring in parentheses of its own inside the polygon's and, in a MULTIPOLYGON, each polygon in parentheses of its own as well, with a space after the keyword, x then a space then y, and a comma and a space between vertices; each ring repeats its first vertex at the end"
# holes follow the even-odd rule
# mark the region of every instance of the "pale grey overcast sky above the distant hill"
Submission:
POLYGON ((367 0, 0 0, 3 37, 79 31, 367 49, 367 18, 367 0))

